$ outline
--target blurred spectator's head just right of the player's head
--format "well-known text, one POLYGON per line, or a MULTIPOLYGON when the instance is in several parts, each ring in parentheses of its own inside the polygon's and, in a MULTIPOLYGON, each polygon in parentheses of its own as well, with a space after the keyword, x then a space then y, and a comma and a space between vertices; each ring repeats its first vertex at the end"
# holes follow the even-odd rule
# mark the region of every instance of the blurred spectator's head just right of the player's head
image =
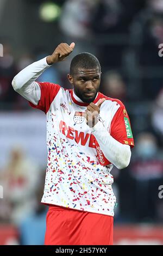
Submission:
POLYGON ((108 71, 104 75, 102 90, 108 97, 124 102, 127 88, 122 76, 117 71, 108 71))

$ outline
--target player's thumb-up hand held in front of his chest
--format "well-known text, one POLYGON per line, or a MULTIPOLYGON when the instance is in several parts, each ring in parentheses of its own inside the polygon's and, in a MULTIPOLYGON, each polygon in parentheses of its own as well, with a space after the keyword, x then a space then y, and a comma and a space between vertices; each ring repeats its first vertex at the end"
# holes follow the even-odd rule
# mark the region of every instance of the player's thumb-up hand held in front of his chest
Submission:
POLYGON ((90 105, 87 106, 84 117, 86 119, 86 124, 89 125, 90 128, 92 128, 97 124, 98 122, 97 117, 100 112, 101 105, 104 101, 105 99, 103 98, 97 102, 97 105, 91 102, 90 105))

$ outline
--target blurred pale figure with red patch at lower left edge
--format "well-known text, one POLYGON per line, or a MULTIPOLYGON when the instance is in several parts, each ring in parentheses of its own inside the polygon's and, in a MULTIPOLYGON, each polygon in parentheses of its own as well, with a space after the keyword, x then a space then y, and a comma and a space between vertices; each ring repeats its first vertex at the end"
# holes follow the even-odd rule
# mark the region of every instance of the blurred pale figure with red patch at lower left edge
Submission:
POLYGON ((4 204, 10 207, 10 221, 19 223, 21 218, 32 211, 35 191, 39 182, 39 168, 24 155, 22 148, 11 150, 9 162, 1 172, 4 188, 4 204))

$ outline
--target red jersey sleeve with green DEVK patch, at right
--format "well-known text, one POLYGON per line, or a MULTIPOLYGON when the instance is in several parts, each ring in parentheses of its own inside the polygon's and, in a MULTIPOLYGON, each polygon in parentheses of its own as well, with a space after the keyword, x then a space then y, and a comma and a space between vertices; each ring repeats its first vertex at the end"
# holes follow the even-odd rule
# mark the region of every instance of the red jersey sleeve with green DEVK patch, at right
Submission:
POLYGON ((122 144, 130 145, 131 148, 134 147, 134 138, 131 131, 131 124, 126 108, 121 101, 118 101, 120 108, 114 115, 111 121, 111 131, 110 135, 116 139, 116 141, 122 144))

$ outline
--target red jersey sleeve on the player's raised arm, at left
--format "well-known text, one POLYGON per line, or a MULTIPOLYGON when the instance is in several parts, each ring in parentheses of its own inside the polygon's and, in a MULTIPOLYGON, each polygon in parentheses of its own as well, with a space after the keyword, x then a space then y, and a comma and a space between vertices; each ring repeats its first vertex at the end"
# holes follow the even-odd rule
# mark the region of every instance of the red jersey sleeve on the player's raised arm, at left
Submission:
POLYGON ((29 105, 33 108, 38 108, 43 112, 47 113, 52 101, 55 96, 58 94, 59 89, 61 88, 58 84, 48 83, 48 82, 37 82, 41 89, 41 99, 39 100, 38 105, 34 105, 29 101, 29 105))

